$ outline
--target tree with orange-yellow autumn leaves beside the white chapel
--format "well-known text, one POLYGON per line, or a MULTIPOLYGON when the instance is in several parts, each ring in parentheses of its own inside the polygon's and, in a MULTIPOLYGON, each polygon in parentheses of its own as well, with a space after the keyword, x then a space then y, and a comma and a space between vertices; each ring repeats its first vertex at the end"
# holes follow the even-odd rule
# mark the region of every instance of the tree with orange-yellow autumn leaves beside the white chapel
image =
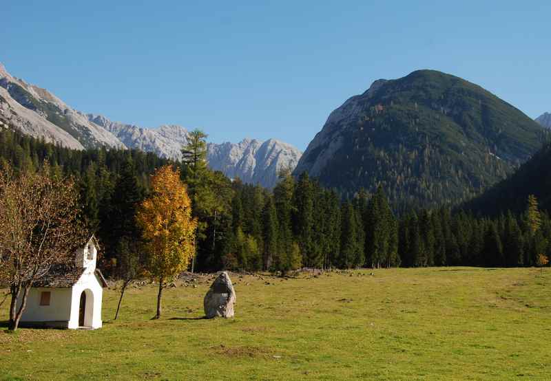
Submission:
POLYGON ((159 168, 151 179, 152 194, 138 208, 146 268, 159 284, 157 313, 160 318, 163 288, 187 269, 194 256, 197 221, 191 217, 191 201, 180 172, 171 166, 159 168))

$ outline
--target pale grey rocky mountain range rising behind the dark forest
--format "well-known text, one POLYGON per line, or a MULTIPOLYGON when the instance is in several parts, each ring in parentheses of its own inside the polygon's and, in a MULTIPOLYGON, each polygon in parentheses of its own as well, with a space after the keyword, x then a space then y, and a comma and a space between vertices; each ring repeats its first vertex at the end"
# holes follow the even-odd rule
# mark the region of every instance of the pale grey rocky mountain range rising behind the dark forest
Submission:
MULTIPOLYGON (((107 146, 141 149, 179 160, 187 129, 166 124, 155 129, 112 122, 101 115, 72 109, 50 91, 10 75, 0 64, 0 123, 67 148, 107 146)), ((242 140, 208 144, 211 168, 229 177, 272 188, 281 168, 293 169, 302 153, 278 140, 242 140)))

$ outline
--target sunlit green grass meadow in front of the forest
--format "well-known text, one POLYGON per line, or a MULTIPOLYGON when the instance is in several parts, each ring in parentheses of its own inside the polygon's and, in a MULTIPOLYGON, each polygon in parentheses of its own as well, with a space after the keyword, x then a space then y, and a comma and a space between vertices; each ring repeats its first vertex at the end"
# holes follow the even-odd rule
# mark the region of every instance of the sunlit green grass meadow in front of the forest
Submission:
MULTIPOLYGON (((0 331, 0 380, 551 379, 551 269, 232 274, 236 318, 201 319, 211 279, 132 287, 96 331, 0 331), (180 284, 180 283, 178 283, 180 284)), ((7 304, 2 306, 7 316, 7 304)))

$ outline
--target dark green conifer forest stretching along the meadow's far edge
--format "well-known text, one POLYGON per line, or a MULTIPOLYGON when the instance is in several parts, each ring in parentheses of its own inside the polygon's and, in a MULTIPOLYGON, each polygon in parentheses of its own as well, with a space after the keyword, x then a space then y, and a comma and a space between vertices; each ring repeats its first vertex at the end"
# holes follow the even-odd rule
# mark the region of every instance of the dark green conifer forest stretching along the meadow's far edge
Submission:
POLYGON ((537 197, 528 197, 529 184, 512 211, 486 214, 473 203, 466 210, 407 210, 398 217, 382 186, 342 199, 307 173, 296 178, 283 171, 273 191, 232 181, 207 167, 206 135, 193 136, 180 163, 134 150, 74 151, 4 129, 0 161, 32 171, 48 160, 54 173, 77 179, 83 221, 100 240, 101 266, 112 275, 121 252, 139 250, 136 206, 149 192, 149 175, 165 164, 180 167, 199 221, 194 271, 520 266, 551 254, 548 206, 539 208, 537 197))

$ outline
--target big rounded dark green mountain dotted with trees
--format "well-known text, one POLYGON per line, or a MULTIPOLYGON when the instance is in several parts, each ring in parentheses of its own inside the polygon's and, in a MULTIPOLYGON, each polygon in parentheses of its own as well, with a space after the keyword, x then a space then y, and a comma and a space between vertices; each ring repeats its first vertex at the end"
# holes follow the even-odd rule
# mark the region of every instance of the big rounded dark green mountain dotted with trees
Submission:
POLYGON ((377 80, 335 109, 294 173, 308 171, 344 197, 382 184, 400 209, 457 202, 527 160, 543 133, 485 89, 419 70, 377 80))

